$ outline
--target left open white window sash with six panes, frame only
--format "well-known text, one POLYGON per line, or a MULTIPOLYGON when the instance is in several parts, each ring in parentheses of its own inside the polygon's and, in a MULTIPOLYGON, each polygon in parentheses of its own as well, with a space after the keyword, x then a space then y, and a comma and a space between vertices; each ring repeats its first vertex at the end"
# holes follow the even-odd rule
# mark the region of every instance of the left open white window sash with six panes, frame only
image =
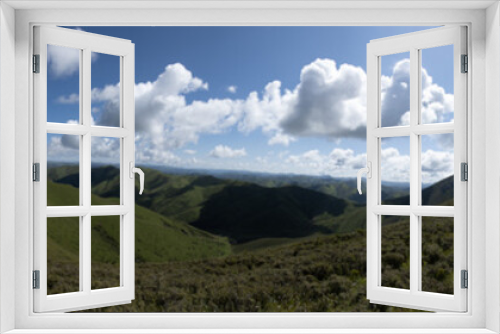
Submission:
POLYGON ((129 40, 101 36, 59 27, 34 27, 34 54, 39 56, 39 73, 34 84, 34 162, 39 164, 39 181, 33 184, 34 270, 39 271, 39 289, 34 289, 34 311, 75 311, 128 304, 135 286, 135 191, 132 172, 135 161, 134 44, 129 40), (71 47, 80 53, 79 124, 47 122, 47 46, 71 47), (91 57, 93 52, 119 58, 120 114, 118 127, 92 125, 91 57), (80 138, 79 205, 47 206, 47 135, 66 134, 80 138), (120 203, 93 206, 91 203, 91 142, 93 138, 119 140, 120 203), (91 220, 99 216, 118 216, 120 223, 120 286, 91 288, 91 220), (79 220, 79 290, 47 294, 47 218, 76 217, 79 220))

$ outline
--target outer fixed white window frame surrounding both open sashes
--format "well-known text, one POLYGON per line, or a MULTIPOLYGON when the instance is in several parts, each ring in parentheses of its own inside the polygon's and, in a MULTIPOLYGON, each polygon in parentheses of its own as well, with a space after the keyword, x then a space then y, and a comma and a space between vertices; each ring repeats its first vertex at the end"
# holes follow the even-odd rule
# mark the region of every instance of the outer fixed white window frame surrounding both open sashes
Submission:
MULTIPOLYGON (((405 1, 406 2, 406 1, 405 1)), ((410 1, 411 2, 411 1, 410 1)), ((317 4, 316 2, 276 2, 270 4, 256 3, 230 5, 210 1, 204 4, 190 3, 180 5, 176 2, 165 4, 170 8, 155 9, 96 9, 96 6, 120 6, 106 2, 82 2, 75 4, 80 9, 66 8, 60 10, 57 6, 70 6, 69 2, 32 2, 10 1, 0 7, 0 182, 15 184, 15 211, 6 209, 5 200, 12 196, 11 189, 0 187, 0 320, 3 320, 0 330, 16 329, 16 333, 35 333, 37 329, 54 329, 51 332, 69 333, 77 329, 88 329, 88 332, 106 332, 105 329, 127 329, 128 333, 146 332, 147 329, 170 329, 164 332, 184 332, 180 329, 193 329, 196 332, 283 332, 289 329, 295 332, 345 332, 350 333, 491 333, 490 330, 500 330, 499 317, 499 272, 498 254, 500 238, 498 229, 498 182, 486 182, 486 171, 491 177, 499 179, 498 164, 500 161, 497 147, 500 143, 498 129, 498 108, 500 99, 500 70, 497 64, 500 60, 500 33, 498 32, 498 3, 474 2, 440 2, 435 1, 432 8, 427 5, 410 4, 407 9, 387 9, 387 2, 371 2, 370 9, 361 8, 359 4, 349 5, 338 1, 337 4, 317 4), (15 23, 12 20, 12 6, 35 8, 17 10, 15 23), (462 6, 462 9, 453 6, 462 6), (491 5, 487 10, 485 6, 491 5), (38 6, 38 7, 37 7, 38 6), (87 6, 87 9, 81 9, 87 6), (184 6, 184 9, 175 8, 184 6), (205 9, 197 8, 202 6, 205 9), (212 8, 210 8, 212 6, 212 8), (232 8, 224 8, 232 7, 232 8), (274 6, 269 8, 269 6, 274 6), (329 7, 330 6, 330 7, 329 7), (342 6, 344 8, 342 8, 342 6), (385 6, 385 9, 384 9, 385 6), (420 6, 420 9, 415 9, 420 6), (441 7, 440 7, 441 6, 441 7), (469 6, 468 9, 467 6, 469 6), (477 8, 478 6, 483 6, 477 8), (208 8, 207 8, 208 7, 208 8), (340 8, 339 8, 340 7, 340 8), (358 7, 356 10, 345 8, 358 7), (438 8, 436 8, 438 7, 438 8), (443 8, 443 9, 439 9, 443 8), (453 7, 453 8, 448 8, 453 7), (375 8, 375 9, 374 9, 375 8), (409 10, 408 8, 413 8, 409 10), (475 9, 470 9, 475 8, 475 9), (306 10, 307 9, 307 10, 306 10), (10 16, 9 16, 10 15, 10 16), (7 19, 5 19, 7 16, 7 19), (4 20, 2 20, 4 19, 4 20), (403 24, 401 24, 403 22, 403 24), (486 22, 486 26, 485 26, 486 22), (32 203, 29 200, 32 191, 30 168, 32 161, 32 94, 30 70, 30 55, 32 53, 32 27, 36 24, 57 25, 442 25, 465 24, 469 28, 469 49, 471 59, 468 78, 468 132, 470 158, 470 184, 468 196, 469 221, 472 222, 468 234, 468 268, 469 289, 468 312, 437 313, 437 314, 370 314, 370 313, 334 313, 334 314, 34 314, 32 290, 30 287, 32 262, 32 203), (8 38, 9 31, 15 28, 15 50, 8 38), (6 38, 7 35, 7 38, 6 38), (7 40, 6 40, 7 39, 7 40), (15 62, 12 55, 15 54, 15 62), (10 57, 10 58, 9 58, 10 57), (485 70, 487 64, 488 71, 485 70), (11 66, 15 65, 15 73, 11 66), (5 70, 5 71, 4 71, 5 70), (5 74, 4 74, 5 73, 5 74), (13 75, 15 74, 15 75, 13 75), (5 77, 7 75, 7 77, 5 77), (8 84, 15 82, 15 96, 8 96, 12 91, 8 84), (15 108, 15 113, 12 112, 15 108), (488 107, 488 108, 486 108, 488 107), (487 117, 488 121, 487 121, 487 117), (496 123, 495 123, 496 122, 496 123), (15 145, 12 145, 14 131, 15 145), (5 131, 4 131, 5 130, 5 131), (485 133, 491 137, 486 141, 485 133), (490 139, 491 138, 491 139, 490 139), (491 142, 490 142, 491 140, 491 142), (7 141, 7 143, 6 143, 7 141), (10 145, 10 147, 9 147, 10 145), (488 164, 486 164, 488 162, 488 164), (10 172, 15 170, 15 182, 10 172), (488 196, 486 196, 488 194, 488 196), (486 213, 488 215, 486 215, 486 213), (15 226, 12 218, 15 214, 15 226), (11 240, 14 240, 13 243, 11 240), (12 256, 14 253, 14 256, 12 256), (494 253, 494 256, 486 256, 494 253), (15 291, 10 292, 15 281, 15 291), (488 293, 486 293, 488 291, 488 293), (12 307, 12 305, 15 305, 12 307), (12 319, 11 317, 14 316, 12 319), (142 329, 138 329, 141 326, 142 329), (245 331, 244 329, 247 328, 245 331), (298 330, 300 328, 300 330, 298 330), (355 330, 355 329, 358 330, 355 330), (413 328, 413 330, 411 330, 413 328), (100 329, 100 330, 99 330, 100 329), (136 331, 132 329, 137 329, 136 331), (215 331, 215 329, 217 329, 215 331), (240 329, 240 330, 238 330, 240 329), (418 329, 418 330, 416 330, 418 329), (432 330, 430 330, 432 329, 432 330)), ((125 2, 122 2, 126 6, 125 2)), ((166 2, 165 2, 166 3, 166 2)), ((366 3, 364 3, 366 6, 366 3)), ((151 5, 144 1, 144 5, 151 5)), ((405 6, 398 2, 398 6, 405 6)), ((5 183, 3 183, 5 184, 5 183)), ((2 185, 3 185, 2 184, 2 185)), ((87 331, 86 331, 87 332, 87 331)))

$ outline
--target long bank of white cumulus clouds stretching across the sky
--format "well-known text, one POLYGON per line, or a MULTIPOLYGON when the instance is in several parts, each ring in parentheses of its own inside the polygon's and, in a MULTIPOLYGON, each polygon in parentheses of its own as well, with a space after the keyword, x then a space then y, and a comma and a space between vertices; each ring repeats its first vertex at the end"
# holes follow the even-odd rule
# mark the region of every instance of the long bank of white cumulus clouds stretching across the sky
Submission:
MULTIPOLYGON (((425 70, 422 76, 424 119, 447 117, 453 96, 434 83, 425 70)), ((382 113, 387 125, 408 122, 408 108, 404 107, 409 101, 408 85, 408 60, 398 62, 391 76, 382 77, 382 113)), ((207 89, 206 82, 179 63, 166 66, 154 81, 136 84, 138 161, 179 163, 174 150, 196 144, 201 135, 234 129, 245 135, 260 131, 268 145, 283 146, 300 137, 338 140, 366 135, 366 74, 360 67, 317 59, 304 66, 293 90, 282 89, 276 80, 244 99, 186 100, 187 94, 207 89)), ((92 90, 97 125, 118 124, 119 98, 118 85, 92 90)), ((59 99, 60 103, 76 101, 72 95, 59 99)), ((335 159, 328 157, 330 168, 337 164, 339 169, 343 161, 354 161, 354 156, 341 157, 341 153, 348 154, 338 151, 335 159)), ((301 161, 304 159, 308 158, 301 161)))

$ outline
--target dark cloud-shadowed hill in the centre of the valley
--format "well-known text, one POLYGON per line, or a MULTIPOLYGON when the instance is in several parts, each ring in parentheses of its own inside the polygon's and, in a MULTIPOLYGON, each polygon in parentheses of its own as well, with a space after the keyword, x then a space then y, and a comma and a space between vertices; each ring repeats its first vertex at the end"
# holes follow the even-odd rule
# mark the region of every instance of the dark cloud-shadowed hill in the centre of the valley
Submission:
POLYGON ((297 238, 315 232, 332 233, 328 224, 314 224, 314 218, 325 215, 333 220, 347 206, 344 200, 295 186, 227 186, 204 203, 199 219, 192 225, 238 243, 297 238))

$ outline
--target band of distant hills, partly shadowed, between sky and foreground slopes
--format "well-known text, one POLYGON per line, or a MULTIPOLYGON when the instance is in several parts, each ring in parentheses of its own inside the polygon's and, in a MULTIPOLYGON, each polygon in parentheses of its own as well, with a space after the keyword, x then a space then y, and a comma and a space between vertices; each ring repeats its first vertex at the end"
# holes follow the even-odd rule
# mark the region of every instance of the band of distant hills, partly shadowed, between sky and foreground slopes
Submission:
MULTIPOLYGON (((136 196, 137 204, 168 218, 170 222, 191 224, 210 233, 229 237, 233 243, 265 238, 267 242, 258 244, 271 244, 272 240, 280 244, 283 239, 304 238, 318 233, 347 233, 364 229, 366 225, 364 205, 326 195, 325 189, 316 191, 299 186, 273 188, 269 184, 272 182, 270 176, 247 177, 259 182, 267 180, 268 184, 261 186, 209 175, 164 174, 154 169, 144 170, 147 175, 145 191, 143 195, 136 196)), ((237 176, 242 177, 239 174, 237 176)), ((49 177, 56 182, 78 185, 77 168, 74 166, 51 168, 49 177)), ((281 176, 276 184, 309 182, 309 187, 319 187, 314 183, 317 179, 281 176)), ((323 186, 333 187, 327 181, 323 186)), ((343 189, 347 184, 336 189, 343 189)), ((118 169, 113 166, 93 168, 92 192, 100 196, 100 201, 116 204, 119 194, 118 169)), ((66 195, 59 196, 64 197, 59 198, 59 201, 71 199, 66 195)), ((425 188, 422 194, 425 205, 452 204, 452 198, 452 177, 425 188)), ((408 202, 408 196, 384 201, 385 204, 393 205, 408 202)))

